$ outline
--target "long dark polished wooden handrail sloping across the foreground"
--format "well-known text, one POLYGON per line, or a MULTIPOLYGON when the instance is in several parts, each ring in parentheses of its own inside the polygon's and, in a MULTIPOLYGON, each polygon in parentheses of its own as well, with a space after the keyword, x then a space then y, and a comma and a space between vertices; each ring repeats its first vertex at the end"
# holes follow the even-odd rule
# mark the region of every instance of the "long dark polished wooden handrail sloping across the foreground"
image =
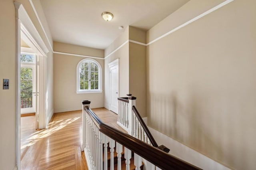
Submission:
POLYGON ((146 144, 141 140, 130 136, 116 128, 112 128, 104 124, 100 118, 88 107, 86 106, 85 111, 92 118, 96 126, 99 128, 100 132, 106 134, 116 142, 122 144, 126 148, 132 150, 136 154, 140 155, 142 158, 145 158, 149 162, 152 162, 157 167, 163 170, 198 170, 200 168, 189 164, 175 156, 167 154, 166 152, 146 144))

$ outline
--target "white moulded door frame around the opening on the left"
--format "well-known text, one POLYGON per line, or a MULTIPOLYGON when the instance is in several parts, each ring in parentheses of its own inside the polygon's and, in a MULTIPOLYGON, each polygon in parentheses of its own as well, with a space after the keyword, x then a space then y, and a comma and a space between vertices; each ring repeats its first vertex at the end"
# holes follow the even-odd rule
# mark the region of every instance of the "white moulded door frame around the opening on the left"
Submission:
MULTIPOLYGON (((26 42, 36 54, 43 57, 44 62, 40 63, 40 66, 44 71, 42 71, 41 76, 44 81, 41 82, 43 88, 40 89, 42 103, 44 107, 42 108, 43 118, 46 117, 46 57, 49 52, 44 41, 40 37, 40 34, 36 30, 32 20, 28 16, 24 6, 20 3, 14 2, 16 8, 16 166, 20 170, 20 40, 26 42)), ((43 126, 46 126, 46 121, 44 121, 43 126)))

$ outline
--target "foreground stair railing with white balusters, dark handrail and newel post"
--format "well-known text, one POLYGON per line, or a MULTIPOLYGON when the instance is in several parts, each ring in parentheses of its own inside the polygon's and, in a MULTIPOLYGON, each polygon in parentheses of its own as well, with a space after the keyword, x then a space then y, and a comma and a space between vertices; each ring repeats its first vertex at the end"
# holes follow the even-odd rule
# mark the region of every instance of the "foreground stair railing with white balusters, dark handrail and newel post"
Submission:
POLYGON ((142 165, 142 160, 144 160, 145 169, 148 170, 199 169, 129 134, 104 124, 90 109, 90 101, 82 101, 82 103, 82 150, 84 150, 89 170, 108 169, 108 147, 110 148, 110 170, 121 170, 123 151, 126 160, 126 170, 130 170, 132 153, 134 153, 134 166, 136 166, 136 170, 142 165), (114 164, 114 151, 116 151, 118 159, 116 166, 114 164))

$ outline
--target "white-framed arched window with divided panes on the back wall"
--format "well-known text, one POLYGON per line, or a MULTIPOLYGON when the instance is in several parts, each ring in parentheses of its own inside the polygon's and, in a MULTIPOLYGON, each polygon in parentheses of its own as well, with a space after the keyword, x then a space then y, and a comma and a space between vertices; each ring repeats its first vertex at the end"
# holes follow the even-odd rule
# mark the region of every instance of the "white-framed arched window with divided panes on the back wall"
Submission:
POLYGON ((95 59, 82 59, 76 67, 76 93, 102 92, 102 68, 95 59))

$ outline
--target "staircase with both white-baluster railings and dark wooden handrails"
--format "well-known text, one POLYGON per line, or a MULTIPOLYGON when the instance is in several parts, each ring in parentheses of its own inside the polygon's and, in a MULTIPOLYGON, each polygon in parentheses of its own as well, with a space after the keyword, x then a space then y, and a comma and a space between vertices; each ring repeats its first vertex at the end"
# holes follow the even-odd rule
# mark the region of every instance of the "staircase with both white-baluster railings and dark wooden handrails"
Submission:
POLYGON ((164 145, 158 146, 135 107, 135 99, 129 96, 119 101, 122 107, 119 107, 117 123, 128 134, 103 123, 90 109, 90 101, 82 101, 81 148, 88 169, 198 170, 198 167, 167 154, 170 149, 164 145))

